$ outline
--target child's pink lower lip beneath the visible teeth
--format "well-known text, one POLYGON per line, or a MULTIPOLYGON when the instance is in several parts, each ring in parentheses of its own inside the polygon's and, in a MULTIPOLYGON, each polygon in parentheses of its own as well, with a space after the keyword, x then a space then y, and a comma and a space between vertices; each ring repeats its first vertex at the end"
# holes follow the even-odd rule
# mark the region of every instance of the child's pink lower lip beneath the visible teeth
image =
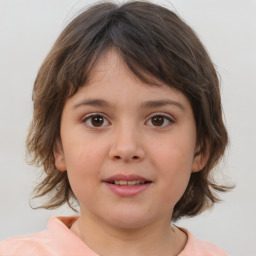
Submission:
POLYGON ((150 183, 145 183, 145 184, 140 184, 135 186, 119 186, 119 185, 115 185, 107 182, 105 182, 105 184, 112 192, 114 192, 119 196, 132 197, 148 189, 152 183, 150 182, 150 183))

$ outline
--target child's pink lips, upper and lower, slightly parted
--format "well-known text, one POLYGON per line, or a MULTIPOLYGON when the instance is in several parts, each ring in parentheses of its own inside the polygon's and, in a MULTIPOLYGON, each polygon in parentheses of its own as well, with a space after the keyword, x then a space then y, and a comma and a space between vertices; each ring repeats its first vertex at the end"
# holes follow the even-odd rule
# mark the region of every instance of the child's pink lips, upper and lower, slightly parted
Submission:
POLYGON ((143 191, 147 190, 152 185, 152 181, 149 179, 146 179, 145 177, 136 175, 136 174, 116 174, 113 175, 105 180, 103 180, 103 183, 107 186, 107 188, 112 191, 114 194, 121 196, 121 197, 134 197, 143 191), (145 181, 144 184, 138 184, 138 185, 116 185, 111 182, 113 181, 145 181))

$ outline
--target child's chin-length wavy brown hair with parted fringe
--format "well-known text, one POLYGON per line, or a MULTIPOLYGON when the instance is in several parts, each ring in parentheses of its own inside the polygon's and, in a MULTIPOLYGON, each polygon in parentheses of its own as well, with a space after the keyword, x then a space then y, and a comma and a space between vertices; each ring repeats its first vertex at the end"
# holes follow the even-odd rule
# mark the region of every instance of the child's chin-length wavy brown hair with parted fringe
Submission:
POLYGON ((228 136, 222 120, 219 80, 202 43, 172 11, 143 1, 123 5, 101 3, 75 18, 61 33, 42 64, 34 84, 34 114, 27 137, 31 163, 43 166, 45 177, 35 197, 49 194, 41 207, 52 209, 76 199, 66 172, 54 164, 60 118, 68 97, 88 82, 97 60, 114 47, 142 81, 163 81, 184 93, 192 106, 197 144, 209 154, 206 166, 192 173, 176 204, 173 220, 194 216, 219 201, 210 171, 223 155, 228 136), (150 76, 149 76, 150 75, 150 76))

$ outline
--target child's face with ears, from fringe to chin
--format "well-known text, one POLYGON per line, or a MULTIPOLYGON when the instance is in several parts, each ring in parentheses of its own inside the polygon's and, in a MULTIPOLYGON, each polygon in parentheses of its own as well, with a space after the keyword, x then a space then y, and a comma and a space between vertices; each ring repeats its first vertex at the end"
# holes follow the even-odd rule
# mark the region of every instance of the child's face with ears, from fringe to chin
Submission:
POLYGON ((188 99, 144 84, 114 50, 66 101, 60 133, 55 164, 67 170, 81 215, 113 227, 169 223, 191 172, 204 165, 188 99))

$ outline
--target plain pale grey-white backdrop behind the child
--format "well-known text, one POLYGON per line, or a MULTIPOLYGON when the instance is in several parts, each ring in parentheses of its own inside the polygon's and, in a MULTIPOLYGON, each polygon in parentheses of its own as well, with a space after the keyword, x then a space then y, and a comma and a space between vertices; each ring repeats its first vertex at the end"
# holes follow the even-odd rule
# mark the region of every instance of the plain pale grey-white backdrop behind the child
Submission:
MULTIPOLYGON (((0 1, 0 240, 38 232, 52 215, 73 214, 67 207, 30 208, 39 172, 25 163, 25 138, 32 117, 33 82, 44 57, 78 10, 94 2, 0 1)), ((255 256, 256 1, 155 2, 175 10, 196 30, 218 69, 230 135, 218 176, 236 183, 223 203, 178 225, 230 255, 255 256)))

